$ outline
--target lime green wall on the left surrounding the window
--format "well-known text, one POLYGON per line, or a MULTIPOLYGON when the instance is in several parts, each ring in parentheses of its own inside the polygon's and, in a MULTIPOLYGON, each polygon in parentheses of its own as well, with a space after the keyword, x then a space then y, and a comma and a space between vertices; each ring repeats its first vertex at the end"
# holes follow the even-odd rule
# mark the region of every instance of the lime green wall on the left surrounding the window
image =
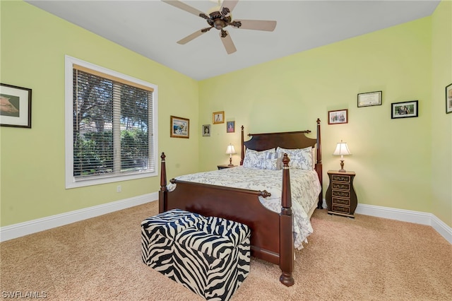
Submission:
POLYGON ((168 173, 198 170, 198 131, 169 138, 170 115, 198 128, 197 81, 35 6, 1 1, 1 83, 32 89, 32 128, 0 128, 1 226, 160 189, 158 177, 64 188, 65 54, 158 85, 158 146, 172 158, 168 173))

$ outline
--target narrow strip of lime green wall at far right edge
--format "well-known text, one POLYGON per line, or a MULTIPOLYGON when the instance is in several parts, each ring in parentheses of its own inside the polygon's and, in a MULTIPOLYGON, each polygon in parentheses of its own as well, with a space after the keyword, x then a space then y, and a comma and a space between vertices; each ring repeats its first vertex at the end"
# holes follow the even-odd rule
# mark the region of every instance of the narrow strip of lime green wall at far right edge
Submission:
POLYGON ((445 87, 452 83, 452 1, 432 15, 432 213, 452 227, 452 113, 445 87))

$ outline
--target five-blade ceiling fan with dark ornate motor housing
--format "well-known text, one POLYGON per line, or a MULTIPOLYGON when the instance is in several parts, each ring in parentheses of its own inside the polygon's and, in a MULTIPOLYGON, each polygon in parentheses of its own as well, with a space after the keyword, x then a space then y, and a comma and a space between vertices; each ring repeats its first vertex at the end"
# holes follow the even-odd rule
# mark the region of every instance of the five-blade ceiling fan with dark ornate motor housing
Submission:
POLYGON ((213 8, 209 13, 203 13, 198 9, 189 6, 188 4, 184 4, 179 0, 162 0, 163 2, 175 6, 177 8, 182 9, 183 11, 187 11, 189 13, 193 13, 196 16, 200 16, 201 18, 206 19, 209 27, 203 28, 201 30, 196 30, 196 32, 191 35, 187 35, 182 40, 177 41, 178 44, 184 45, 191 40, 194 40, 196 37, 199 37, 203 33, 207 33, 210 29, 215 28, 220 30, 220 38, 225 46, 227 54, 232 54, 237 51, 235 48, 234 42, 232 42, 230 34, 224 28, 227 26, 232 26, 234 28, 240 29, 251 29, 251 30, 264 30, 264 31, 273 31, 276 27, 276 21, 270 20, 232 20, 232 10, 237 5, 239 0, 223 0, 220 6, 220 0, 218 0, 218 6, 213 8))

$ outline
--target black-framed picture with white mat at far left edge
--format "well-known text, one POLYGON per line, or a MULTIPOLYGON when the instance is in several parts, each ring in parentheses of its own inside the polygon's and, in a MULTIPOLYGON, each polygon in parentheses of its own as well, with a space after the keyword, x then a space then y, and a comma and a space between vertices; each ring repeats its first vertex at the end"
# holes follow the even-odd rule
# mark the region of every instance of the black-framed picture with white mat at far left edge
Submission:
POLYGON ((31 89, 0 83, 0 125, 31 129, 31 89))

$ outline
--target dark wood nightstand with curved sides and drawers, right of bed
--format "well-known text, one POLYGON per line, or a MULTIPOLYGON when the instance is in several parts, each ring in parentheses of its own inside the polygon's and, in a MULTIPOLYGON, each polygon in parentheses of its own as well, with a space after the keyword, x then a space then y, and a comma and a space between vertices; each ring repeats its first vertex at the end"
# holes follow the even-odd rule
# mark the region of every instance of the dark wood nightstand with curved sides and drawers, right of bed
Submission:
POLYGON ((330 186, 328 186, 325 197, 328 214, 355 218, 355 209, 358 204, 353 188, 355 172, 328 170, 328 177, 330 177, 330 186))

